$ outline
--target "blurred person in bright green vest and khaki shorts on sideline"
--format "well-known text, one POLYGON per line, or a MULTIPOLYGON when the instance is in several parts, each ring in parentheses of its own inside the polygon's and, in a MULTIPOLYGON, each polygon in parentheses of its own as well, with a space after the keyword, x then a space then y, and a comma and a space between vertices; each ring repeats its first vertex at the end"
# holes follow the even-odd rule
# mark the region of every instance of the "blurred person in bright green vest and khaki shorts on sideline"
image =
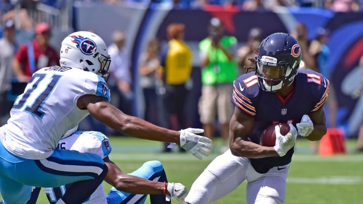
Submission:
POLYGON ((230 102, 233 80, 237 77, 235 52, 237 39, 224 35, 224 26, 218 18, 212 18, 209 36, 199 43, 202 65, 202 96, 199 100, 200 120, 204 136, 212 139, 215 116, 218 114, 221 151, 228 149, 229 119, 233 114, 230 102))

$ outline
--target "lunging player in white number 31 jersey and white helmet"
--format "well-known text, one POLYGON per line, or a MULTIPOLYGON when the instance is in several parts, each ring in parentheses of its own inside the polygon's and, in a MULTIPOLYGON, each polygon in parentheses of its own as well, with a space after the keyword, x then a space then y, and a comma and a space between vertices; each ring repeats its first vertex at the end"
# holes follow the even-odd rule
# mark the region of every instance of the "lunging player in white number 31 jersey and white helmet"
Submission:
POLYGON ((81 203, 93 193, 107 174, 102 158, 56 149, 67 130, 88 114, 133 137, 176 143, 199 159, 209 155, 211 140, 196 134, 203 129, 165 129, 109 104, 102 77, 108 76, 111 59, 98 35, 85 31, 68 35, 60 58, 61 67, 44 67, 33 74, 7 124, 0 127, 0 193, 6 204, 25 203, 31 186, 72 183, 57 203, 81 203))

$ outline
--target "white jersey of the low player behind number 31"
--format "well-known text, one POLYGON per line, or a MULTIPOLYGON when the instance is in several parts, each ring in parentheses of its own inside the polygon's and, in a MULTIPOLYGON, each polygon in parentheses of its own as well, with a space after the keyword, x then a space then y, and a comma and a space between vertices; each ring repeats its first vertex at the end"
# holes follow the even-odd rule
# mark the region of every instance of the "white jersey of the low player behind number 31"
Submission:
MULTIPOLYGON (((101 132, 96 131, 77 131, 59 141, 57 149, 76 150, 78 152, 93 153, 105 158, 111 152, 111 146, 108 138, 101 132)), ((51 203, 55 203, 65 193, 66 187, 43 188, 51 203)), ((107 203, 106 195, 103 190, 103 184, 92 193, 87 199, 87 204, 107 203)))

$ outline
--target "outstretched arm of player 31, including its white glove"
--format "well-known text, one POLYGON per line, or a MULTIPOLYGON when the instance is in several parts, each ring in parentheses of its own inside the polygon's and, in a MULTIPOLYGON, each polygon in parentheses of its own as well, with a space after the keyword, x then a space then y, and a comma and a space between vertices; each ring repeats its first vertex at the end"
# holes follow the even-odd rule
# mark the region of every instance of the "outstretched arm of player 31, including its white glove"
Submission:
POLYGON ((136 138, 178 144, 198 159, 202 159, 202 155, 208 156, 212 150, 212 141, 198 135, 204 131, 203 129, 187 128, 175 131, 162 128, 125 114, 101 96, 84 95, 78 99, 77 106, 88 109, 93 117, 115 130, 136 138))

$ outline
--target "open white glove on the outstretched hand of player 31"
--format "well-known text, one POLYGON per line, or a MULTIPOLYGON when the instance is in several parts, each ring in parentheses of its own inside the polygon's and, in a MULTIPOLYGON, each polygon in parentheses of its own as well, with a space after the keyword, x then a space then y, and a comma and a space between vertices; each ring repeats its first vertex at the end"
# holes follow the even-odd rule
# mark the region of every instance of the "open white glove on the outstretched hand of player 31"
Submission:
POLYGON ((204 132, 204 129, 187 128, 180 132, 180 147, 191 152, 198 159, 202 159, 202 155, 208 156, 212 150, 212 140, 198 133, 204 132), (201 155, 202 154, 202 155, 201 155))

